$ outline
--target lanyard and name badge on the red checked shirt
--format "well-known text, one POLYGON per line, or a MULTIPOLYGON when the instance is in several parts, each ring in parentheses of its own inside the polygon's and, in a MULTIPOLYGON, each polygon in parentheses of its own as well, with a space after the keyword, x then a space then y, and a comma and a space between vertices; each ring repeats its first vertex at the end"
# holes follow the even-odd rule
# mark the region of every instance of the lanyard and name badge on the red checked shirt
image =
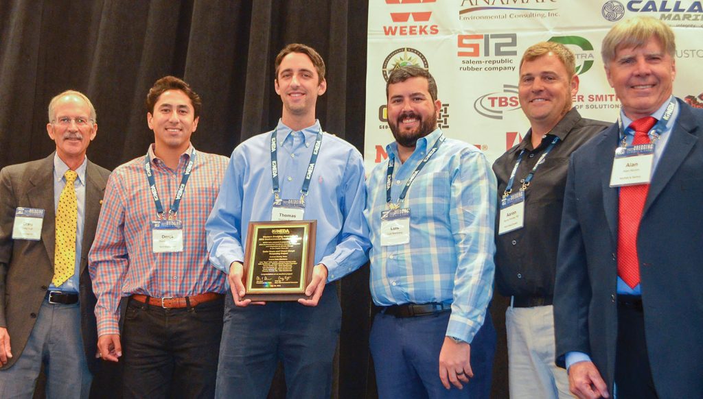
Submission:
POLYGON ((195 155, 195 150, 193 150, 191 152, 191 159, 188 161, 188 165, 186 165, 186 171, 183 172, 181 185, 179 185, 178 191, 176 191, 176 197, 166 217, 164 217, 164 207, 161 203, 159 192, 156 189, 156 181, 153 171, 151 170, 151 158, 148 153, 146 155, 144 171, 149 181, 149 190, 154 200, 156 213, 158 214, 158 219, 151 222, 152 251, 155 254, 183 252, 183 222, 176 219, 176 214, 178 214, 178 210, 181 207, 181 198, 183 197, 183 192, 186 190, 188 178, 191 178, 195 155))

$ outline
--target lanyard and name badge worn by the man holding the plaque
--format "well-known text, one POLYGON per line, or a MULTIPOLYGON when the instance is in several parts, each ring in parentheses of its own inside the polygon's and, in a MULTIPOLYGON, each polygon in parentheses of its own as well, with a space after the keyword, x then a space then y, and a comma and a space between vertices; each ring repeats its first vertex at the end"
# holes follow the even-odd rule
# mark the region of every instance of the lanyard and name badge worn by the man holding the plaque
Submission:
POLYGON ((280 185, 278 183, 278 145, 276 131, 271 132, 271 186, 273 187, 273 207, 271 207, 271 221, 302 221, 305 214, 305 197, 307 197, 312 174, 315 170, 317 157, 322 146, 322 131, 317 133, 315 146, 310 156, 303 186, 300 189, 300 199, 281 199, 280 185))

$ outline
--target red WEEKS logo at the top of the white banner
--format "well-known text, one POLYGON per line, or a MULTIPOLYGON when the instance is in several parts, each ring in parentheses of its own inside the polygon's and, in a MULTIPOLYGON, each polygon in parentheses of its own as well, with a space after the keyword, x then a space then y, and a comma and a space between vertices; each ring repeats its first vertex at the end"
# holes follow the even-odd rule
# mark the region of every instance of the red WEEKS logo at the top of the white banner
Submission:
POLYGON ((386 0, 391 5, 392 25, 383 25, 386 36, 427 36, 439 33, 439 25, 430 23, 432 10, 416 4, 434 3, 437 0, 386 0), (411 4, 411 6, 408 6, 411 4))

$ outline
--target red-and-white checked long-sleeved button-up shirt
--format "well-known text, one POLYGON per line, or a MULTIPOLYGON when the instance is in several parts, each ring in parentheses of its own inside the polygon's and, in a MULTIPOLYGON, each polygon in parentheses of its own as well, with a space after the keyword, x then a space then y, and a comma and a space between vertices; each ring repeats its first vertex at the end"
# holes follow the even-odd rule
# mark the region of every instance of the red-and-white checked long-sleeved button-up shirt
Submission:
MULTIPOLYGON (((158 195, 168 212, 191 145, 176 170, 148 153, 158 195)), ((155 254, 151 222, 158 220, 148 178, 146 156, 122 164, 110 175, 89 256, 89 271, 98 303, 98 336, 119 334, 120 299, 131 294, 156 298, 182 297, 204 292, 226 292, 226 275, 210 266, 205 242, 205 220, 212 209, 228 158, 198 151, 176 218, 183 223, 183 251, 155 254)))

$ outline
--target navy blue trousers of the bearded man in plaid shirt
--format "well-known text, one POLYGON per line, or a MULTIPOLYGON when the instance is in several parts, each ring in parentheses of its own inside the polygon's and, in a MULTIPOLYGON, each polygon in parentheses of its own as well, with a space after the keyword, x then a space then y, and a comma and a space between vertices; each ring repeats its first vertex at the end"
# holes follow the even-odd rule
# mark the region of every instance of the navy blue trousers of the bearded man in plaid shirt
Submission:
POLYGON ((490 398, 496 329, 490 313, 471 343, 468 386, 446 389, 439 379, 439 352, 451 313, 396 318, 378 313, 370 348, 378 396, 384 398, 490 398))

